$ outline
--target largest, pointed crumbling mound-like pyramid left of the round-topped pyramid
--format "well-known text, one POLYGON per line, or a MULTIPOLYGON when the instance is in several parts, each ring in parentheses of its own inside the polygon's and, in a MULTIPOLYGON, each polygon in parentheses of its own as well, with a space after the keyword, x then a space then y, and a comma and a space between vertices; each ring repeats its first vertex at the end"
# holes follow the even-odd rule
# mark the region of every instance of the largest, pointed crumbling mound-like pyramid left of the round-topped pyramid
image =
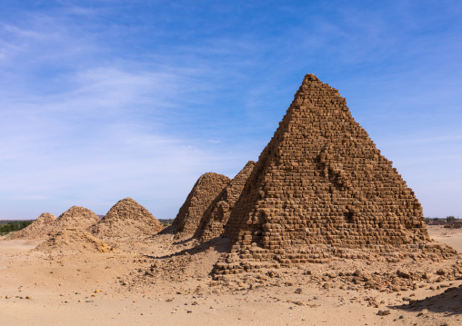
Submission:
POLYGON ((95 226, 92 232, 102 237, 146 237, 164 228, 145 207, 131 198, 117 202, 95 226))

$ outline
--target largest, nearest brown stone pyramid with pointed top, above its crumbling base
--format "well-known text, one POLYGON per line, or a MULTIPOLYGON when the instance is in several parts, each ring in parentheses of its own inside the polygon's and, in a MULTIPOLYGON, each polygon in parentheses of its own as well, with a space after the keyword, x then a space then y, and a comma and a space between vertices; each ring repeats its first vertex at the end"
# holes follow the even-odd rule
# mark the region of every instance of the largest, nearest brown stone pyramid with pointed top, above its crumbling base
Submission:
POLYGON ((429 239, 415 194, 346 100, 313 74, 260 154, 224 235, 240 258, 279 262, 322 260, 321 246, 347 257, 346 248, 429 239))

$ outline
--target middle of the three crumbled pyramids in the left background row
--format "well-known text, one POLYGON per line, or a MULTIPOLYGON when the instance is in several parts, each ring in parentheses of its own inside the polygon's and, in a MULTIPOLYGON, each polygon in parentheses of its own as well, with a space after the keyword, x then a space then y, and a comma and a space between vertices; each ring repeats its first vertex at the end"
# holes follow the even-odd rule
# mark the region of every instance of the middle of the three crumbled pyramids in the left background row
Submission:
POLYGON ((58 216, 52 225, 52 233, 55 234, 56 232, 71 228, 86 230, 98 221, 99 218, 95 212, 92 212, 84 207, 72 206, 58 216))

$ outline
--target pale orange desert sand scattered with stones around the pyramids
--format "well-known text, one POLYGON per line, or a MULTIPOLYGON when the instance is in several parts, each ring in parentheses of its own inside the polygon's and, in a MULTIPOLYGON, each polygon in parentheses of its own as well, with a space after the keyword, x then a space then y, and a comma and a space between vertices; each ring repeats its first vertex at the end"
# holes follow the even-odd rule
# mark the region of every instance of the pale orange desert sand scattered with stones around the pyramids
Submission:
MULTIPOLYGON (((462 230, 428 226, 462 252, 462 230)), ((229 242, 197 246, 172 234, 110 243, 110 252, 36 250, 41 241, 0 241, 1 325, 460 325, 462 280, 450 262, 339 260, 214 282, 229 242), (427 271, 377 278, 374 271, 427 271), (369 276, 364 276, 369 275, 369 276), (362 279, 364 276, 364 280, 362 279), (382 280, 368 287, 369 280, 382 280), (358 281, 359 280, 359 281, 358 281)), ((385 275, 385 274, 384 274, 385 275)))

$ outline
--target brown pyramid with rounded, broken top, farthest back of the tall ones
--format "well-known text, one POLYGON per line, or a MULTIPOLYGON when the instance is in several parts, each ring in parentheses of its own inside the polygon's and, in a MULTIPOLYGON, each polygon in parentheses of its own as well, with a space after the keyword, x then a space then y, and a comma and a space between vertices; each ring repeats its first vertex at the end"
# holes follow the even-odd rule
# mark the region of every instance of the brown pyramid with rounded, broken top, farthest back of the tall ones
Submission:
POLYGON ((202 174, 172 223, 176 231, 193 235, 208 206, 229 182, 230 179, 223 174, 202 174))

